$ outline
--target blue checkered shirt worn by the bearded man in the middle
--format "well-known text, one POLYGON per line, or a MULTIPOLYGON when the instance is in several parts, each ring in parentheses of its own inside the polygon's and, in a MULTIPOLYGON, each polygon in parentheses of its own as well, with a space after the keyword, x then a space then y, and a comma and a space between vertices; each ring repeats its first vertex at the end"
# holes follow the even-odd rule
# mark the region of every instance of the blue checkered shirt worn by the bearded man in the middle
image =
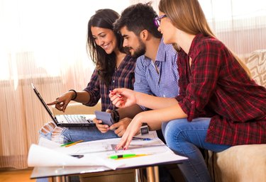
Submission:
POLYGON ((138 57, 135 64, 135 91, 174 98, 179 94, 178 79, 177 52, 172 45, 165 45, 163 40, 160 42, 155 63, 145 55, 138 57))

